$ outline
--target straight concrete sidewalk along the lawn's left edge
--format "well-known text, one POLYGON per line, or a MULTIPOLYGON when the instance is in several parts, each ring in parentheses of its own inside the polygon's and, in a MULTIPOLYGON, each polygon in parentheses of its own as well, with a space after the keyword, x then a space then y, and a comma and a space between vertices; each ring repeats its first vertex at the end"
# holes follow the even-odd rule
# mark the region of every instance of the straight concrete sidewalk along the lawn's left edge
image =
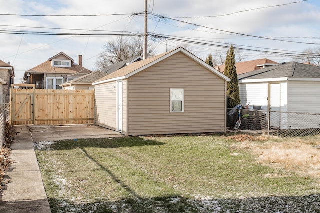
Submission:
POLYGON ((5 174, 11 183, 2 193, 0 213, 51 213, 28 126, 15 129, 10 156, 14 163, 5 174))

